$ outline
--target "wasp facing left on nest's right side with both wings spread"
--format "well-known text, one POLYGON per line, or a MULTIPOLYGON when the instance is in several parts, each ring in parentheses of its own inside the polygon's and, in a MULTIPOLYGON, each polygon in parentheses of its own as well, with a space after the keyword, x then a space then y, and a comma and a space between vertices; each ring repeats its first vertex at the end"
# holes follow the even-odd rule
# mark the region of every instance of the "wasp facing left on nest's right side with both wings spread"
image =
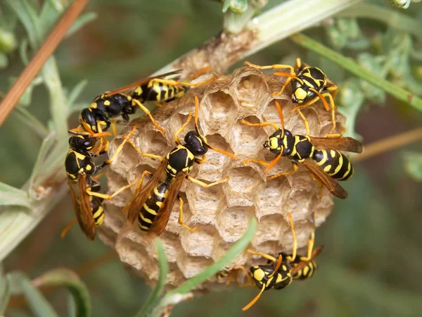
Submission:
MULTIPOLYGON (((276 101, 276 108, 279 111, 280 120, 283 123, 283 112, 280 104, 276 101)), ((287 156, 293 164, 293 168, 287 172, 269 176, 268 180, 278 178, 281 175, 293 175, 298 170, 298 164, 305 166, 314 178, 326 185, 328 190, 336 197, 347 198, 347 192, 341 187, 337 180, 348 180, 353 175, 352 163, 340 151, 354 153, 362 152, 362 144, 352 137, 310 137, 309 135, 293 135, 292 132, 271 122, 249 123, 242 120, 245 125, 253 127, 266 127, 271 125, 276 132, 270 135, 264 142, 264 148, 276 154, 276 158, 268 163, 258 159, 248 159, 242 163, 259 163, 267 173, 281 156, 287 156), (316 149, 324 147, 324 149, 316 149)))

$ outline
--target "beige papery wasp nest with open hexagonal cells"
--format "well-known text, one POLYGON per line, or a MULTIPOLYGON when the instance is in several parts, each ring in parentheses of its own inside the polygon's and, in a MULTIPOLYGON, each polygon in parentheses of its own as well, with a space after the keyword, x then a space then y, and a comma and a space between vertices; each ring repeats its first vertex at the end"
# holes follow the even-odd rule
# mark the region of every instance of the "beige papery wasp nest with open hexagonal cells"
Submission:
MULTIPOLYGON (((285 127, 293 133, 305 133, 297 111, 290 113, 293 109, 290 85, 281 96, 271 96, 271 92, 281 89, 285 80, 284 77, 265 75, 255 68, 240 68, 231 75, 219 75, 208 85, 189 89, 183 98, 158 108, 153 116, 167 131, 165 135, 154 128, 147 116, 133 120, 122 132, 124 135, 135 126, 136 131, 131 138, 139 149, 165 156, 174 147, 174 133, 184 123, 189 111, 195 110, 196 95, 200 99, 200 131, 213 147, 238 157, 238 161, 234 161, 209 150, 207 161, 194 166, 191 174, 194 178, 215 182, 229 176, 229 181, 224 184, 206 189, 184 180, 180 191, 185 201, 184 222, 191 227, 198 225, 200 229, 190 232, 177 223, 179 205, 176 202, 170 221, 160 235, 170 262, 167 287, 181 285, 220 259, 243 235, 252 217, 257 218, 258 228, 250 248, 277 254, 279 251, 292 251, 293 236, 287 220, 289 212, 293 215, 299 247, 306 246, 314 227, 321 225, 331 212, 331 194, 324 188, 320 197, 320 187, 306 168, 300 167, 295 175, 267 181, 264 167, 256 163, 246 166, 241 163, 250 158, 274 159, 274 155, 262 146, 274 128, 249 127, 241 123, 241 119, 245 118, 252 123, 269 120, 280 125, 274 99, 283 108, 285 127)), ((309 120, 311 135, 324 136, 331 130, 331 113, 324 110, 320 101, 305 108, 303 114, 309 120)), ((338 130, 343 128, 343 121, 344 117, 337 114, 338 130)), ((179 136, 181 140, 189 130, 193 130, 192 122, 179 136)), ((110 155, 121 142, 122 136, 113 140, 110 155)), ((159 163, 139 156, 132 146, 125 144, 108 170, 110 192, 133 182, 143 170, 153 172, 159 163)), ((290 168, 291 161, 281 158, 269 175, 290 168)), ((158 279, 154 245, 136 223, 128 225, 126 215, 121 213, 131 197, 132 192, 127 190, 106 204, 106 219, 99 230, 99 237, 117 251, 121 261, 139 273, 148 284, 154 285, 158 279)), ((236 265, 248 268, 255 265, 255 258, 244 252, 227 269, 236 265)), ((217 279, 211 280, 203 287, 217 286, 217 283, 217 279)))

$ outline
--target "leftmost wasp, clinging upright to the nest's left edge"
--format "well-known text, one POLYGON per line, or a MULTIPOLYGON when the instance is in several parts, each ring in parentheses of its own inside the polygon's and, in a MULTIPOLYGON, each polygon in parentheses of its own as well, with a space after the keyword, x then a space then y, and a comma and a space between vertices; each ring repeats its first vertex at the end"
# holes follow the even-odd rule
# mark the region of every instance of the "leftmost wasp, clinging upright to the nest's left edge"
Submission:
MULTIPOLYGON (((102 207, 103 199, 112 199, 124 189, 133 184, 126 185, 117 190, 112 195, 101 194, 101 184, 96 180, 99 177, 93 176, 102 170, 106 165, 110 164, 115 156, 122 150, 124 143, 120 144, 115 151, 115 155, 101 165, 94 163, 96 155, 93 151, 97 139, 110 135, 108 132, 101 132, 91 135, 86 132, 72 132, 74 135, 69 139, 70 149, 65 159, 65 168, 68 175, 68 185, 70 187, 70 195, 75 210, 76 219, 72 220, 61 236, 64 237, 68 230, 75 224, 76 220, 82 232, 89 240, 94 240, 96 235, 96 226, 102 225, 104 220, 104 211, 102 207), (77 190, 75 190, 77 184, 77 190)), ((103 154, 104 149, 99 149, 99 153, 103 154)))

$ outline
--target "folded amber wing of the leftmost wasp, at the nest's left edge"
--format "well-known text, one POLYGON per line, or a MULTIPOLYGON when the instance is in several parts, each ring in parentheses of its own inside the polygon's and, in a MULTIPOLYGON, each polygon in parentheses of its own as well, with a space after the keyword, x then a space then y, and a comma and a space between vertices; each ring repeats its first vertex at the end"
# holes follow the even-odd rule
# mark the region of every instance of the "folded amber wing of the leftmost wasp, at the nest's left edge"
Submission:
POLYGON ((92 214, 91 201, 89 200, 89 194, 87 194, 87 175, 83 174, 79 176, 77 180, 78 185, 78 198, 71 187, 70 194, 72 196, 73 207, 75 208, 75 214, 79 227, 84 232, 89 240, 95 238, 95 221, 94 215, 92 214))

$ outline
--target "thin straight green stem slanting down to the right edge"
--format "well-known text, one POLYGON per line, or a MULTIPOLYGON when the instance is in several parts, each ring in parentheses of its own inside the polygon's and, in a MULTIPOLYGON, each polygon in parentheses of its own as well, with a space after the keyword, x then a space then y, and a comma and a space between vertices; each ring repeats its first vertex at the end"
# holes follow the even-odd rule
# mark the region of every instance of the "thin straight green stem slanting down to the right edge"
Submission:
POLYGON ((329 49, 327 46, 324 46, 323 44, 316 42, 314 39, 311 39, 310 37, 300 33, 292 35, 290 39, 292 39, 296 44, 305 47, 305 49, 309 49, 309 51, 314 51, 317 54, 328 58, 330 61, 338 64, 338 66, 345 68, 345 70, 348 70, 350 73, 356 75, 357 77, 366 80, 375 87, 383 89, 383 91, 391 94, 395 98, 410 104, 414 108, 418 109, 418 111, 422 111, 422 99, 415 96, 414 94, 411 94, 411 92, 408 92, 405 89, 397 87, 396 85, 392 84, 392 82, 374 75, 369 70, 362 68, 358 63, 353 61, 352 58, 347 58, 341 54, 338 54, 332 49, 329 49))

